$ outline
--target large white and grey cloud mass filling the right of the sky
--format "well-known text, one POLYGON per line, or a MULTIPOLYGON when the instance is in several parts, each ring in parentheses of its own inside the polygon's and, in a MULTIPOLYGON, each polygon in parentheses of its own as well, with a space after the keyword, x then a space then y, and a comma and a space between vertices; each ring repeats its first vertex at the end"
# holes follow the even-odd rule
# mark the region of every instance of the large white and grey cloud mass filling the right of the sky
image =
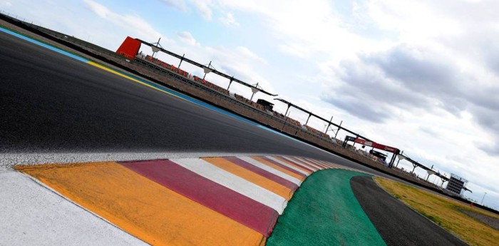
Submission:
POLYGON ((308 77, 323 81, 322 91, 303 95, 305 86, 297 87, 302 93, 290 98, 321 96, 332 104, 315 101, 312 111, 333 107, 374 140, 471 183, 499 185, 490 175, 499 173, 490 156, 499 154, 499 49, 491 44, 499 41, 491 11, 499 2, 367 0, 341 11, 321 0, 222 2, 257 16, 284 56, 317 66, 320 73, 308 77))

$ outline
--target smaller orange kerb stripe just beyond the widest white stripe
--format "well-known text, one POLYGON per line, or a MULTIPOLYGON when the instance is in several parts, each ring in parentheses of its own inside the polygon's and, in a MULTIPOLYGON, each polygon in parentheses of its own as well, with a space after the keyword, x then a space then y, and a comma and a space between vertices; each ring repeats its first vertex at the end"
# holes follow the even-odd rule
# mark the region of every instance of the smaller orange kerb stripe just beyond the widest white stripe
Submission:
POLYGON ((277 195, 280 195, 282 198, 289 200, 293 196, 293 191, 289 188, 284 187, 284 185, 280 185, 279 183, 274 182, 273 180, 269 180, 268 178, 264 178, 257 173, 254 173, 246 168, 242 168, 239 165, 231 163, 229 160, 225 160, 224 158, 202 158, 202 160, 206 160, 208 163, 217 166, 218 168, 222 168, 229 173, 239 176, 259 187, 262 187, 266 190, 271 191, 277 195))

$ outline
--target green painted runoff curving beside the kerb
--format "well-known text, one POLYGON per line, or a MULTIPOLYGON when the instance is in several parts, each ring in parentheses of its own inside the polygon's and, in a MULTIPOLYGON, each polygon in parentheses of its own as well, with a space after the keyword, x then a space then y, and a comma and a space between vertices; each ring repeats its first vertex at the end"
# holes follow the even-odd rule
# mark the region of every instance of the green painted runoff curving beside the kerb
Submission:
POLYGON ((321 170, 305 180, 279 217, 267 246, 386 245, 356 200, 350 170, 321 170))

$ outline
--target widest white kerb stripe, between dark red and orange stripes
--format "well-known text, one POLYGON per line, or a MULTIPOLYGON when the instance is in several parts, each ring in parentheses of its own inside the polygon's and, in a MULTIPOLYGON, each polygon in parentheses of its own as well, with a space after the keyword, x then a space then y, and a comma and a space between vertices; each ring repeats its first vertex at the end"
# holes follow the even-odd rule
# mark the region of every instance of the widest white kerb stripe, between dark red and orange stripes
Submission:
POLYGON ((198 158, 192 159, 173 159, 171 160, 184 168, 191 170, 215 183, 223 185, 230 190, 234 190, 241 195, 245 195, 252 200, 255 200, 263 205, 272 207, 279 212, 279 215, 284 211, 287 205, 287 200, 280 195, 272 193, 254 183, 251 183, 237 175, 227 172, 222 168, 218 168, 205 160, 198 158))

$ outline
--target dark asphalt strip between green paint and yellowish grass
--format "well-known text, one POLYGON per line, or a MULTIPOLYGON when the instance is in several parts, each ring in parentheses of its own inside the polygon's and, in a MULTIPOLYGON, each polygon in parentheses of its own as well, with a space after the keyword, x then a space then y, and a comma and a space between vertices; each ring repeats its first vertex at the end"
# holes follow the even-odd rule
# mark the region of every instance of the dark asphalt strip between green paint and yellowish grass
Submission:
POLYGON ((387 245, 467 245, 393 198, 371 177, 356 176, 350 185, 387 245))

